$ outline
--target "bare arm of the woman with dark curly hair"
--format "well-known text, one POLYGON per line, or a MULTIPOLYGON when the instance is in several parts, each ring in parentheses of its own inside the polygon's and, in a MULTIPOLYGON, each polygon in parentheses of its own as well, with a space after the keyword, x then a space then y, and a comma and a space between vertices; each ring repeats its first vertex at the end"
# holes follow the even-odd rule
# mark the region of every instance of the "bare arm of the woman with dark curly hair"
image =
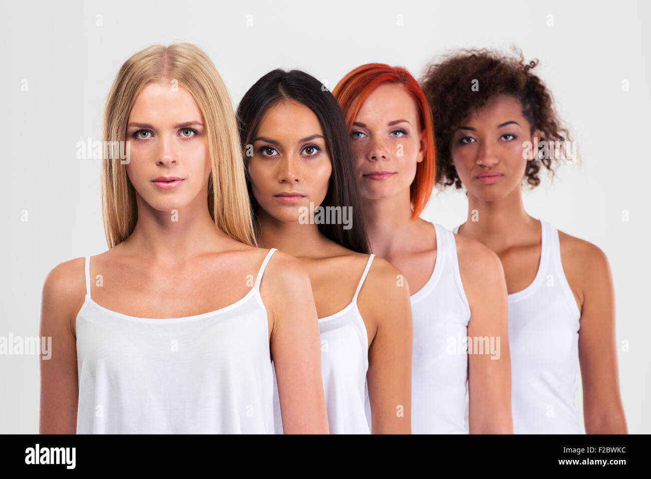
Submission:
MULTIPOLYGON (((581 242, 570 269, 581 270, 583 304, 579 364, 583 382, 583 418, 588 434, 626 434, 619 394, 615 342, 615 292, 608 259, 597 246, 581 242)), ((575 276, 570 274, 570 277, 575 276)))

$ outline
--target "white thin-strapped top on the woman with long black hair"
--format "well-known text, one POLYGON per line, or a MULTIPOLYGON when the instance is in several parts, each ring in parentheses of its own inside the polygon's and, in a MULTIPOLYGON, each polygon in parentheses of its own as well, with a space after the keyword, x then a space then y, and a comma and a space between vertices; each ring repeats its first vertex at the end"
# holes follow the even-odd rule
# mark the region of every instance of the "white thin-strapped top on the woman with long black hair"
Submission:
MULTIPOLYGON (((357 308, 357 295, 374 257, 374 254, 368 257, 350 304, 337 313, 319 318, 321 376, 331 434, 370 433, 365 412, 368 334, 357 308)), ((273 383, 275 431, 282 434, 278 388, 275 380, 273 383)))

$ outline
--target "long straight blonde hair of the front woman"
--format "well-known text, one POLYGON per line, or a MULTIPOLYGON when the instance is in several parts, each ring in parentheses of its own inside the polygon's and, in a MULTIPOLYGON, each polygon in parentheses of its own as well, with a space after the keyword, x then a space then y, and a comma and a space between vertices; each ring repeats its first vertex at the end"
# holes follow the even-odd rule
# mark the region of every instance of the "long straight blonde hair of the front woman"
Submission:
MULTIPOLYGON (((124 62, 106 100, 102 139, 111 145, 126 140, 135 98, 153 81, 176 81, 193 96, 208 138, 210 216, 215 227, 230 238, 256 246, 240 137, 229 93, 215 65, 200 48, 189 43, 152 45, 124 62)), ((133 233, 138 212, 126 165, 119 158, 103 156, 102 214, 106 241, 113 248, 133 233)))

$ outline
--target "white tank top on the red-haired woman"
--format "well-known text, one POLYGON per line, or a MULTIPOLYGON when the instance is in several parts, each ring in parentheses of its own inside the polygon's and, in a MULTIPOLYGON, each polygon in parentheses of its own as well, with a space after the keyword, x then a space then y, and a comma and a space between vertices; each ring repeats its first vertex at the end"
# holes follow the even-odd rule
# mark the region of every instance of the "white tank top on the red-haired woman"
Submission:
MULTIPOLYGON (((411 433, 467 434, 465 338, 470 306, 454 235, 439 224, 434 228, 437 252, 432 276, 411 295, 411 433)), ((368 399, 367 416, 372 424, 368 399)))

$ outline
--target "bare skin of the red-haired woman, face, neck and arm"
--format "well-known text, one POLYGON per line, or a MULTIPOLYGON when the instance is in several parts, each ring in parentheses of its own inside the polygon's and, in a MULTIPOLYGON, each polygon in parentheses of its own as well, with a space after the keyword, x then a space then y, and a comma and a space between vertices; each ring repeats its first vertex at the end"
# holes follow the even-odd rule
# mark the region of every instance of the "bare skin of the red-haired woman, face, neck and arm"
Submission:
MULTIPOLYGON (((379 85, 359 110, 351 137, 372 251, 402 271, 416 293, 432 276, 437 247, 433 225, 411 220, 409 186, 426 151, 415 100, 402 85, 379 85)), ((498 360, 469 355, 469 431, 512 433, 502 267, 486 246, 456 235, 454 239, 471 309, 468 336, 501 338, 498 360)))

